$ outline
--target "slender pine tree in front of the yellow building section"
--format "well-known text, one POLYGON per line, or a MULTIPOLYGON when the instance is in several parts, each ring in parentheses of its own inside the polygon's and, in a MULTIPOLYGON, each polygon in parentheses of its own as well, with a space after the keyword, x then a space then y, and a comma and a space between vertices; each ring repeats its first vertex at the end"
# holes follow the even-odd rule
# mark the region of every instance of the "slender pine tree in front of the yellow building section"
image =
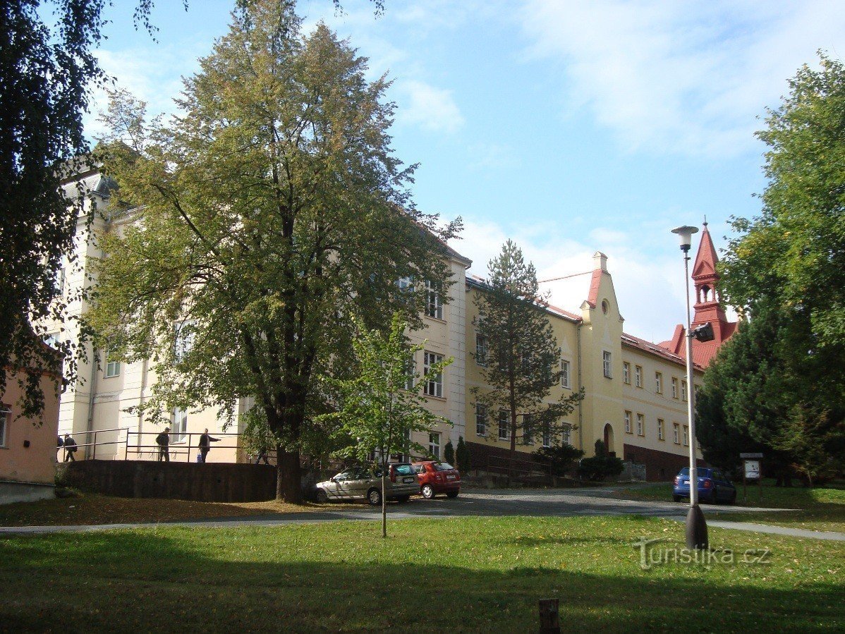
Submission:
POLYGON ((547 402, 560 384, 560 348, 538 290, 537 271, 508 240, 488 263, 486 287, 477 293, 476 329, 488 342, 482 374, 488 384, 473 388, 489 411, 506 411, 510 428, 508 478, 513 477, 517 440, 529 444, 549 434, 558 438, 570 424, 563 417, 581 400, 581 392, 547 402))

